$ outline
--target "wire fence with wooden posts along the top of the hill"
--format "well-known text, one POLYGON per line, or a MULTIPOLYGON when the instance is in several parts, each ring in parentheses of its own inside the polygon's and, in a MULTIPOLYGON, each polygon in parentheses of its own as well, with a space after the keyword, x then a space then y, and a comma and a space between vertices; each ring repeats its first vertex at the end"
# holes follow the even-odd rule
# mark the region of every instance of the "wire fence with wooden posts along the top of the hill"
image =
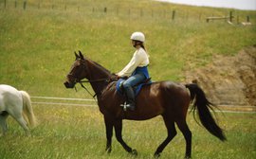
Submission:
POLYGON ((48 10, 59 10, 59 11, 80 11, 84 14, 101 14, 101 15, 115 15, 124 17, 140 17, 150 19, 165 19, 170 21, 182 20, 197 20, 203 22, 234 22, 239 24, 240 22, 250 22, 254 19, 255 15, 241 16, 238 12, 232 10, 219 11, 216 15, 206 15, 202 12, 184 11, 178 9, 141 9, 141 8, 118 8, 118 7, 102 7, 102 6, 86 6, 78 4, 67 4, 67 3, 54 3, 48 2, 43 3, 28 3, 25 1, 18 0, 2 0, 0 1, 0 9, 48 9, 48 10))

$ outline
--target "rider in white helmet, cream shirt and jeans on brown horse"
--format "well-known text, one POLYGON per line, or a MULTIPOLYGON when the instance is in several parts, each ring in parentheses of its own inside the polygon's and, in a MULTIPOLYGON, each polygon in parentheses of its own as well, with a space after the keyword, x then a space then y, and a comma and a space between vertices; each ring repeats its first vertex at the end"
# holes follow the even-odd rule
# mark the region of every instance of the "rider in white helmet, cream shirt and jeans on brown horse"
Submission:
POLYGON ((131 61, 117 75, 119 78, 128 78, 123 82, 124 92, 127 97, 126 107, 134 111, 136 102, 133 87, 138 83, 149 79, 149 55, 144 46, 145 35, 142 32, 134 32, 131 35, 131 40, 136 51, 131 61))

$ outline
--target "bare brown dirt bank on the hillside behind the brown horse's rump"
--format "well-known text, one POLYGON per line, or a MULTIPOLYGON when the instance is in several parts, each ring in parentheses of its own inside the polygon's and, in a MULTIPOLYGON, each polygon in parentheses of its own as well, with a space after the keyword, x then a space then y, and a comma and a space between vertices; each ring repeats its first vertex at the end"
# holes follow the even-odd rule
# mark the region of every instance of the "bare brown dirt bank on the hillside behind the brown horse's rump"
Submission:
POLYGON ((204 68, 186 72, 186 82, 192 80, 217 105, 256 107, 256 45, 234 57, 215 55, 204 68))

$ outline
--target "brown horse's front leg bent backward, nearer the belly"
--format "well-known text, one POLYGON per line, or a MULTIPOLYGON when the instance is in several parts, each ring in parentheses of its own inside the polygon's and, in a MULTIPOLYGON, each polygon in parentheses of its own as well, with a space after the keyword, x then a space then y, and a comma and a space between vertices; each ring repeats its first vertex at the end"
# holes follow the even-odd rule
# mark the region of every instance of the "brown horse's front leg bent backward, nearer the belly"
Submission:
POLYGON ((130 148, 122 139, 122 135, 121 135, 121 131, 122 131, 122 120, 119 119, 115 122, 115 132, 116 132, 116 137, 117 140, 119 141, 119 143, 121 144, 121 146, 123 147, 124 150, 128 151, 129 153, 135 154, 137 155, 137 150, 132 150, 132 148, 130 148))

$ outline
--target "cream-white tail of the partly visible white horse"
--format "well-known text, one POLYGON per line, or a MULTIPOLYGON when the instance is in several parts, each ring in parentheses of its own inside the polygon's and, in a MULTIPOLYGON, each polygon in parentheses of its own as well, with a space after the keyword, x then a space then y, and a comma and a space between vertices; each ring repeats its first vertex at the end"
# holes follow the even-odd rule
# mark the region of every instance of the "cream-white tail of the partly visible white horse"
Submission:
POLYGON ((36 125, 36 118, 33 113, 30 96, 25 91, 20 91, 20 93, 22 94, 23 98, 23 112, 25 115, 27 115, 28 122, 30 126, 33 128, 36 125))

